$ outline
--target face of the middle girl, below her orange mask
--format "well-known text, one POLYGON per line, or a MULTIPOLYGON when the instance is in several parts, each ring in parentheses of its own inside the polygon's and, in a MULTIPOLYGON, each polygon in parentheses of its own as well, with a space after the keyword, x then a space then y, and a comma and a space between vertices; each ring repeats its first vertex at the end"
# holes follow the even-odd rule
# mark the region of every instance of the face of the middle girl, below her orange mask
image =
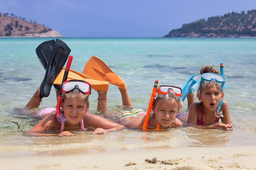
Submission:
POLYGON ((178 101, 170 98, 163 98, 157 101, 154 113, 157 123, 162 127, 168 127, 175 121, 175 117, 179 111, 178 101))

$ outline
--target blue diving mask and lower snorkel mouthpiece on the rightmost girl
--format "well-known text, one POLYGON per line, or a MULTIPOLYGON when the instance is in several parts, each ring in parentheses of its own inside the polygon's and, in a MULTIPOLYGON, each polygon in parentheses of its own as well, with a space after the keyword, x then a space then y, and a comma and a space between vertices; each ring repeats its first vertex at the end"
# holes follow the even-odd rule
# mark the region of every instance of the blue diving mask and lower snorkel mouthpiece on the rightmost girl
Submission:
MULTIPOLYGON (((202 75, 199 86, 202 86, 204 88, 204 87, 209 86, 209 84, 213 83, 213 84, 221 87, 221 90, 223 91, 223 88, 225 86, 224 85, 225 81, 226 81, 226 78, 223 75, 207 72, 202 75)), ((217 118, 223 117, 223 112, 222 112, 222 110, 220 111, 222 102, 223 102, 223 99, 221 100, 220 104, 218 105, 218 107, 215 111, 215 116, 217 118)))

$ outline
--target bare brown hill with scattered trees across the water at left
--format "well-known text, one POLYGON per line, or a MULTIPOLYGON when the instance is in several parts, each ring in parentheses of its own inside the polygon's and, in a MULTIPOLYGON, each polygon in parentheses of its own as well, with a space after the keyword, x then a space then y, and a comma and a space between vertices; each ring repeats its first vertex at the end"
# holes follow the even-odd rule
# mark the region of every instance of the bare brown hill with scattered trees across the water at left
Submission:
POLYGON ((26 17, 0 12, 0 37, 61 37, 56 32, 26 17))

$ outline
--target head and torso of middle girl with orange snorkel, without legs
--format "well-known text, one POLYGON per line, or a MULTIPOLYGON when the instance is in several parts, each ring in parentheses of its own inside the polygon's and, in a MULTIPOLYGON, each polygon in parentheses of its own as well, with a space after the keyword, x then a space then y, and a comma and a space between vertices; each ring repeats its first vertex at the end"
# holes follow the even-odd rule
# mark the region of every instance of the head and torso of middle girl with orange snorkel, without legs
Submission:
POLYGON ((153 95, 155 96, 152 98, 152 105, 149 104, 148 112, 141 109, 123 112, 118 123, 124 124, 125 127, 144 130, 182 127, 181 121, 176 118, 183 107, 180 101, 182 89, 177 86, 160 85, 153 95))

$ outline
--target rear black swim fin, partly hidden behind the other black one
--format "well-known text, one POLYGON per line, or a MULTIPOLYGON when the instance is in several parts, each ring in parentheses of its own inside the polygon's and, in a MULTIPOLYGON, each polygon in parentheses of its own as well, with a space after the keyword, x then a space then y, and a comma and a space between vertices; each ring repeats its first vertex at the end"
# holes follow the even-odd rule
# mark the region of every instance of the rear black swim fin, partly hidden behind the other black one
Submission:
POLYGON ((38 56, 44 69, 47 68, 47 64, 54 46, 55 40, 44 41, 36 49, 35 53, 38 56))

